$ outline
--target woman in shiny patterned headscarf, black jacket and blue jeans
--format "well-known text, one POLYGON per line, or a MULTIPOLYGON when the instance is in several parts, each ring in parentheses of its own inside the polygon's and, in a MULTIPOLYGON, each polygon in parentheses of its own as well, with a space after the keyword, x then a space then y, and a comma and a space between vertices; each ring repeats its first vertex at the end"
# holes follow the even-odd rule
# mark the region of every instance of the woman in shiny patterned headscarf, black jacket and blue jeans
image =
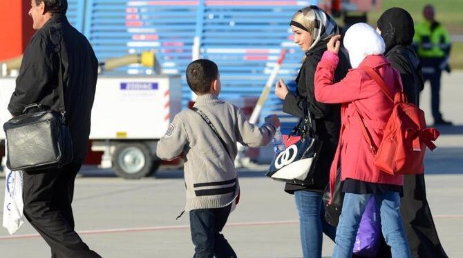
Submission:
MULTIPOLYGON (((339 105, 323 104, 315 100, 314 73, 326 43, 339 34, 334 19, 316 6, 308 6, 294 13, 291 23, 294 43, 301 46, 305 59, 296 78, 296 94, 288 92, 284 81, 276 83, 275 94, 283 99, 283 112, 303 117, 304 107, 310 105, 310 115, 315 123, 315 135, 323 141, 321 155, 314 168, 314 176, 303 185, 287 183, 285 191, 294 194, 299 211, 303 257, 321 257, 323 232, 334 240, 335 228, 325 221, 322 191, 328 184, 330 165, 334 157, 340 129, 339 105)), ((341 55, 335 72, 335 81, 348 71, 348 59, 341 55)))

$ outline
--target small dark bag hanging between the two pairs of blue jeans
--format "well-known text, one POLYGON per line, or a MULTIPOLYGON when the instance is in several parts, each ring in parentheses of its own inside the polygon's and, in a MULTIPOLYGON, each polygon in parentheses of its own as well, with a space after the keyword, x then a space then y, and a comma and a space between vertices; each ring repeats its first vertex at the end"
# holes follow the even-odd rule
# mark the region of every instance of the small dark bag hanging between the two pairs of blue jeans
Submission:
POLYGON ((336 170, 336 181, 334 183, 333 196, 331 198, 330 184, 323 192, 323 204, 325 204, 325 220, 332 226, 338 226, 339 217, 343 207, 344 193, 342 192, 341 167, 336 170), (330 204, 331 199, 331 204, 330 204))

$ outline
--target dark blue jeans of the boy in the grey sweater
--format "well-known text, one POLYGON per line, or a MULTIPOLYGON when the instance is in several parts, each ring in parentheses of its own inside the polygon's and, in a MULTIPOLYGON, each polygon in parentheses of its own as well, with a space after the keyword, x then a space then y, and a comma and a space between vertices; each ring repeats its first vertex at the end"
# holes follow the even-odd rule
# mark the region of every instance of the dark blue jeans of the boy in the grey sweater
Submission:
POLYGON ((220 234, 230 214, 231 204, 223 208, 191 210, 191 239, 195 245, 193 258, 234 258, 236 253, 220 234))

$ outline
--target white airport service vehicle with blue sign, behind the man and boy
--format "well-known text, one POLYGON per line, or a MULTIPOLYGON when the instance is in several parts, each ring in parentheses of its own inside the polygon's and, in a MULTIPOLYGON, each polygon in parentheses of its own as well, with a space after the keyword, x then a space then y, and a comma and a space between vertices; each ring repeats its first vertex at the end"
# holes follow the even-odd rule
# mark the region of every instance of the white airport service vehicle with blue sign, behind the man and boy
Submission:
MULTIPOLYGON (((10 119, 7 106, 14 89, 15 77, 0 77, 1 125, 10 119)), ((100 166, 126 179, 154 173, 161 163, 156 144, 180 112, 181 101, 180 75, 100 75, 90 133, 91 149, 104 152, 100 166)))

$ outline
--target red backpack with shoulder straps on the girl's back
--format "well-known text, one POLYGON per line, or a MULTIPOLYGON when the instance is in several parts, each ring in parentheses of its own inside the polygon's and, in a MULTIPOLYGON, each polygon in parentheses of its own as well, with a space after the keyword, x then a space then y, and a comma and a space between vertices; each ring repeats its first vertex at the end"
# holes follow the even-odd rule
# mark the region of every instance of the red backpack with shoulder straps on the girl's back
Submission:
POLYGON ((407 97, 399 89, 395 96, 390 92, 383 79, 373 68, 362 67, 381 87, 381 90, 394 103, 386 127, 384 137, 375 148, 372 138, 363 119, 363 135, 375 154, 375 166, 390 175, 422 174, 424 172, 424 152, 426 146, 430 150, 436 148, 433 141, 439 137, 435 128, 426 128, 424 112, 413 103, 407 103, 407 97))

